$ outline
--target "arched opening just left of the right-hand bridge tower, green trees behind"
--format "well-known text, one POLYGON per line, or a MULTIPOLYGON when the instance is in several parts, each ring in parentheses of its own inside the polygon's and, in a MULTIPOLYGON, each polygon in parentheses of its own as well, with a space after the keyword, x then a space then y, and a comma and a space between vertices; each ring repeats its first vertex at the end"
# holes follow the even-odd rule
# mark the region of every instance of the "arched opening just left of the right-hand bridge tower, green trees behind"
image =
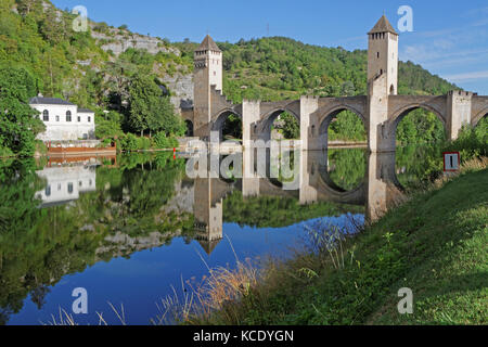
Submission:
POLYGON ((364 118, 347 107, 329 113, 322 120, 319 136, 326 139, 328 147, 337 144, 367 144, 364 118))

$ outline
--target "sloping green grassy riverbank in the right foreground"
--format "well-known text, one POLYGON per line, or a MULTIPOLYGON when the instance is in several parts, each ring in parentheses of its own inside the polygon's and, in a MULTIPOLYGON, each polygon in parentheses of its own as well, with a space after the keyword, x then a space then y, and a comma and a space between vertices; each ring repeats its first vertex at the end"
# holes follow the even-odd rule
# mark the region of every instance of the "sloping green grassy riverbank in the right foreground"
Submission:
POLYGON ((259 275, 245 265, 216 271, 187 323, 486 324, 487 163, 466 163, 459 177, 343 240, 337 253, 319 244, 259 275), (413 314, 398 313, 402 287, 413 292, 413 314))

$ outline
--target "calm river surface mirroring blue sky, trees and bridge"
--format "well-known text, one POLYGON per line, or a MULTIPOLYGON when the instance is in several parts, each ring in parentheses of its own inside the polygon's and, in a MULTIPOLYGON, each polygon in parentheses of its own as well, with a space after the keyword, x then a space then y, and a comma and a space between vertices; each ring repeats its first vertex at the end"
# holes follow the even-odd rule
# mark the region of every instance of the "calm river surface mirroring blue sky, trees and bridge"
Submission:
MULTIPOLYGON (((259 266, 321 224, 354 232, 425 178, 425 153, 303 152, 298 179, 190 178, 172 153, 0 162, 0 324, 150 324, 208 267, 259 266), (88 314, 74 314, 75 288, 88 314)), ((427 172, 428 174, 428 172, 427 172)))

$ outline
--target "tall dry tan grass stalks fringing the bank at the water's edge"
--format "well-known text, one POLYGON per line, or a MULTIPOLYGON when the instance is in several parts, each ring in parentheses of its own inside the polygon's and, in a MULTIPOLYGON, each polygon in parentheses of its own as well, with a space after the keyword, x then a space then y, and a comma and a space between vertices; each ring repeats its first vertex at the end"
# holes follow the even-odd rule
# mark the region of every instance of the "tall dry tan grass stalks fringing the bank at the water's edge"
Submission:
POLYGON ((326 268, 338 270, 351 264, 354 247, 347 243, 362 228, 362 220, 352 216, 343 228, 317 222, 306 228, 304 247, 294 250, 293 260, 268 258, 257 265, 236 258, 235 269, 218 267, 208 269, 209 275, 198 283, 181 281, 181 291, 174 288, 174 294, 158 304, 159 314, 151 321, 156 325, 246 324, 244 312, 272 305, 268 301, 270 292, 286 287, 285 283, 307 283, 326 268))

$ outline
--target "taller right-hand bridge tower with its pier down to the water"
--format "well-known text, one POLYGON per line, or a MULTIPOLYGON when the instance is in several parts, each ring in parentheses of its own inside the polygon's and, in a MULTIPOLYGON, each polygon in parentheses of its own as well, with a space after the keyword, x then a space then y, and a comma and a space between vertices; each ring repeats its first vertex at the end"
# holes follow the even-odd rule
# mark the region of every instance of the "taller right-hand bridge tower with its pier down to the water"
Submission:
POLYGON ((368 36, 369 149, 395 151, 395 139, 388 139, 387 120, 388 95, 398 92, 398 34, 383 15, 368 36))

